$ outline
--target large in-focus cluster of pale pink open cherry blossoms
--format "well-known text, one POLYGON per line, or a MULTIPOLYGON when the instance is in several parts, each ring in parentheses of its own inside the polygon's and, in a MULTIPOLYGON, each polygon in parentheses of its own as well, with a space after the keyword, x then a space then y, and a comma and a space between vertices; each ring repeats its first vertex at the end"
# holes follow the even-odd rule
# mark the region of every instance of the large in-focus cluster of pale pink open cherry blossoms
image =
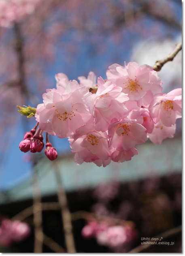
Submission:
POLYGON ((87 79, 78 77, 78 83, 59 73, 56 88, 47 89, 36 108, 40 129, 68 138, 77 164, 131 160, 138 154, 136 145, 147 138, 155 144, 172 138, 181 117, 181 89, 163 94, 152 67, 113 64, 106 75, 96 83, 90 72, 87 79))

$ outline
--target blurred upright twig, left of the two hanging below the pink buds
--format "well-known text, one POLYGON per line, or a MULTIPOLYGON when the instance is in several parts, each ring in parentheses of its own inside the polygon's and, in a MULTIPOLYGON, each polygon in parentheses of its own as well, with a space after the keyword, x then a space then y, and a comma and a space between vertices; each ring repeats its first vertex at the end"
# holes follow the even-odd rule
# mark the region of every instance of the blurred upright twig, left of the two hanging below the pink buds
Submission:
POLYGON ((43 252, 42 204, 36 169, 32 176, 33 186, 33 215, 34 215, 34 253, 43 252))

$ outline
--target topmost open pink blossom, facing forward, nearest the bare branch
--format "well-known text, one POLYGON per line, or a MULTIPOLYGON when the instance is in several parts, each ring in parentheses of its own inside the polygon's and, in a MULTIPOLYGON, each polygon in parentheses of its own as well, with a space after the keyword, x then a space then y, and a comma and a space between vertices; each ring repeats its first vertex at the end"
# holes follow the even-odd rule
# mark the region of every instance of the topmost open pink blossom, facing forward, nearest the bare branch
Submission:
POLYGON ((113 64, 106 72, 108 80, 113 81, 122 88, 124 93, 128 93, 130 100, 138 101, 138 105, 147 107, 153 95, 162 91, 162 80, 157 72, 149 65, 139 66, 136 62, 129 62, 122 67, 113 64))

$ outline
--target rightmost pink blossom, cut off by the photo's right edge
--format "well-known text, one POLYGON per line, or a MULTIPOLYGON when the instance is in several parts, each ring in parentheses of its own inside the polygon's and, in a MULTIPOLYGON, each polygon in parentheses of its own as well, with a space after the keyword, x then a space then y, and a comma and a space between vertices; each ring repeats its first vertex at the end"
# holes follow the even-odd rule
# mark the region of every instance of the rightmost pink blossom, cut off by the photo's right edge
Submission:
POLYGON ((157 94, 149 105, 149 112, 155 123, 171 127, 177 118, 182 117, 182 88, 174 89, 168 94, 157 94))

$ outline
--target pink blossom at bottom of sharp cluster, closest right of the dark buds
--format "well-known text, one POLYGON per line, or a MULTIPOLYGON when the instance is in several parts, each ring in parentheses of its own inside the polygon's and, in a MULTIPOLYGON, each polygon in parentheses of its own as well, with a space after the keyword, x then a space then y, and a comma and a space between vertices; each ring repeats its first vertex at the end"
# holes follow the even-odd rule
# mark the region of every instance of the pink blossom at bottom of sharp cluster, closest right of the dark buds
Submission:
POLYGON ((87 123, 77 129, 73 139, 69 138, 73 149, 74 161, 81 164, 94 162, 97 166, 106 166, 111 161, 111 151, 108 148, 108 135, 106 132, 96 131, 94 124, 87 123))

